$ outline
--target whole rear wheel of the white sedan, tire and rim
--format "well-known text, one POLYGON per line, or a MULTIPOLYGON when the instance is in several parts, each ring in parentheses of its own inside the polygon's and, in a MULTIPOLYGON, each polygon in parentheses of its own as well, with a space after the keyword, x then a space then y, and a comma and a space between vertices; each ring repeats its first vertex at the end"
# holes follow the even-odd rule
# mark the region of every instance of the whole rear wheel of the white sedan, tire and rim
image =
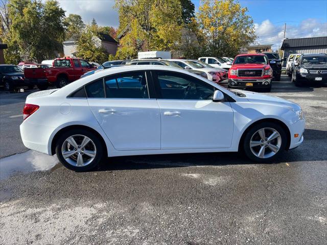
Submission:
POLYGON ((100 163, 103 146, 92 132, 84 129, 70 130, 58 139, 56 154, 65 167, 75 171, 87 171, 100 163))

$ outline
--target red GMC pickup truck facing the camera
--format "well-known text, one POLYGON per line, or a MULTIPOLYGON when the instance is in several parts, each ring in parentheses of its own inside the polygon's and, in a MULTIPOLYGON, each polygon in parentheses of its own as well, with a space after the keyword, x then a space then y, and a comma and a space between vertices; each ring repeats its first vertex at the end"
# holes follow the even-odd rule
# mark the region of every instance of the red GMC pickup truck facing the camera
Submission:
POLYGON ((241 54, 228 71, 228 87, 271 90, 272 69, 265 54, 241 54))

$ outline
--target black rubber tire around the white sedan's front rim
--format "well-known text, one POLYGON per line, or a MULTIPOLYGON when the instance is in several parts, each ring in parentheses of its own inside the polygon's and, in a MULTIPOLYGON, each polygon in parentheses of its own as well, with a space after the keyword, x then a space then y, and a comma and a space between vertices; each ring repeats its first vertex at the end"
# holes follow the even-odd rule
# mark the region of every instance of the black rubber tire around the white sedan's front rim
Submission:
MULTIPOLYGON (((270 131, 266 130, 266 134, 269 134, 270 131)), ((268 135, 267 135, 268 136, 268 135)), ((253 136, 254 137, 254 136, 253 136)), ((276 139, 277 140, 277 139, 276 139)), ((246 135, 244 137, 243 140, 243 150, 245 155, 252 161, 255 162, 272 162, 274 159, 278 158, 279 156, 281 156, 281 154, 283 154, 283 152, 286 149, 286 145, 287 145, 287 135, 285 130, 283 129, 283 127, 281 127, 280 125, 276 124, 275 122, 261 122, 260 124, 256 124, 254 126, 252 126, 247 132, 246 135), (267 158, 260 158, 256 155, 254 155, 251 151, 251 147, 250 147, 250 141, 252 136, 260 129, 263 128, 270 128, 270 129, 274 129, 276 130, 279 135, 281 136, 281 144, 279 146, 279 150, 271 157, 267 157, 267 158)), ((265 142, 264 142, 265 143, 265 142)), ((263 144, 264 144, 263 143, 263 144)), ((262 146, 257 146, 259 148, 261 148, 262 146)), ((269 148, 265 148, 265 151, 272 152, 269 148), (268 150, 266 150, 268 149, 268 150)))

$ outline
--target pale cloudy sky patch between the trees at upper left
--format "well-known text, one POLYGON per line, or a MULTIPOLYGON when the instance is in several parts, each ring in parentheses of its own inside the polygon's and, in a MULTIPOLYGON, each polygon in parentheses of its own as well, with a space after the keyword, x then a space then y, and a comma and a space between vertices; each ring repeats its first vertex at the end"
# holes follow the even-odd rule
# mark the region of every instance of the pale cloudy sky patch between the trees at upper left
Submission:
POLYGON ((113 0, 59 0, 60 7, 69 14, 79 14, 85 23, 95 18, 100 26, 118 28, 118 11, 114 8, 113 0))

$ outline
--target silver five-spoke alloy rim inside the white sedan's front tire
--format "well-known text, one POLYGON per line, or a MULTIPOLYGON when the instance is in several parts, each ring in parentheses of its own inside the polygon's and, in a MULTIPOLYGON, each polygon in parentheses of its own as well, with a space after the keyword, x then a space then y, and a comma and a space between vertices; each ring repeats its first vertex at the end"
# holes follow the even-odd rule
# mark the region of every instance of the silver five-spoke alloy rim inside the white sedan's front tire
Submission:
POLYGON ((256 131, 250 140, 251 152, 259 158, 270 158, 281 149, 282 137, 273 128, 262 128, 256 131))

